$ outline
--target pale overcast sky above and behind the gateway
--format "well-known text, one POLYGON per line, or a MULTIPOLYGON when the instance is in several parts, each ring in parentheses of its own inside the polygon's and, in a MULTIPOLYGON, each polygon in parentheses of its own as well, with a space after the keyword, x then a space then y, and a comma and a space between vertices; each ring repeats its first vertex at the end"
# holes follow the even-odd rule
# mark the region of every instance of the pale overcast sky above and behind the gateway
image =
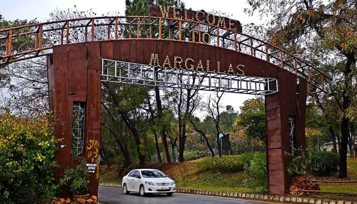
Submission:
MULTIPOLYGON (((120 15, 124 15, 125 0, 0 0, 1 9, 0 13, 7 20, 15 19, 37 19, 38 21, 44 21, 49 18, 49 13, 57 9, 68 9, 77 6, 79 11, 92 9, 98 16, 106 14, 108 12, 116 11, 120 15)), ((244 13, 244 8, 248 5, 246 0, 186 0, 183 1, 186 4, 186 8, 192 8, 192 10, 205 10, 205 11, 220 11, 226 13, 231 18, 239 20, 243 25, 251 22, 259 23, 260 20, 257 16, 248 16, 244 13)), ((243 30, 244 33, 244 30, 243 30)), ((209 94, 214 92, 205 93, 205 98, 209 94)), ((248 98, 253 98, 253 95, 246 94, 232 94, 225 93, 223 96, 222 106, 231 105, 235 110, 239 110, 243 101, 248 98)), ((204 113, 201 113, 204 115, 204 113)), ((200 114, 200 115, 201 115, 200 114)), ((201 115, 201 117, 202 117, 201 115)))

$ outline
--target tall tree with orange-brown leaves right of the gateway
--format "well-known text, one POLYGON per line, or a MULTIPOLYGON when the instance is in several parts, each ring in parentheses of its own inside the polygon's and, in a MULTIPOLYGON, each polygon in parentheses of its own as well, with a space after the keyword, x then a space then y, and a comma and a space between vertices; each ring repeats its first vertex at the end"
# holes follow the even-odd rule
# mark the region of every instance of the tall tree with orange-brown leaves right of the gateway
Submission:
POLYGON ((346 177, 350 138, 347 110, 356 95, 357 4, 351 0, 252 0, 248 4, 249 14, 259 11, 270 17, 271 43, 300 55, 333 77, 327 84, 328 96, 318 97, 334 97, 341 111, 339 175, 346 177))

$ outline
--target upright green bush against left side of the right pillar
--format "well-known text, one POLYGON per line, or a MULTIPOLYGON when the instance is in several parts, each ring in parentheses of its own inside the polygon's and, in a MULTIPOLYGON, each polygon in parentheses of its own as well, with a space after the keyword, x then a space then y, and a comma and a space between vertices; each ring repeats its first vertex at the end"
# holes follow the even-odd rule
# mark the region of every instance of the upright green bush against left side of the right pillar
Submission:
POLYGON ((243 181, 245 187, 253 188, 257 192, 267 192, 267 162, 266 155, 263 153, 256 153, 253 159, 248 164, 244 165, 244 173, 247 179, 243 181))

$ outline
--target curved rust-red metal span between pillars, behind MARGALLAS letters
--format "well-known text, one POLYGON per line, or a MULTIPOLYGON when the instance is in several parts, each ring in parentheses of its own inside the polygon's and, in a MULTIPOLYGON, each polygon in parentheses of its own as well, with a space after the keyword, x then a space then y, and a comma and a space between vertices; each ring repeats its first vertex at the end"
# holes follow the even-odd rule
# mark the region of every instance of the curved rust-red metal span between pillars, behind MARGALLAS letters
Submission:
MULTIPOLYGON (((249 55, 237 53, 234 50, 216 46, 154 39, 125 39, 101 42, 101 56, 108 59, 115 58, 120 61, 148 64, 152 53, 159 54, 161 65, 166 55, 168 55, 173 66, 173 58, 177 56, 183 58, 183 60, 192 58, 195 61, 195 67, 199 60, 202 61, 202 64, 205 64, 205 68, 206 60, 210 60, 211 70, 215 70, 217 62, 220 61, 220 71, 228 71, 231 63, 234 69, 236 69, 237 65, 243 64, 245 65, 245 75, 277 78, 278 66, 249 55), (155 52, 152 47, 155 47, 155 52), (182 49, 177 49, 176 47, 187 47, 187 53, 183 53, 182 49)), ((287 70, 282 71, 288 72, 287 70)))

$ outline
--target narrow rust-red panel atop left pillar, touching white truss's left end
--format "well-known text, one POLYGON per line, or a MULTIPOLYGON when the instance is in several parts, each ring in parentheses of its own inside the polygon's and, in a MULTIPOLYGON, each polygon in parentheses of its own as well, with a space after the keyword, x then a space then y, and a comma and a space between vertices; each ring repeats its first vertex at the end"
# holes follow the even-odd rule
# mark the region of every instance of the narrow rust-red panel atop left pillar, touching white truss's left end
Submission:
POLYGON ((101 70, 100 66, 100 42, 87 43, 87 62, 88 69, 101 70))

